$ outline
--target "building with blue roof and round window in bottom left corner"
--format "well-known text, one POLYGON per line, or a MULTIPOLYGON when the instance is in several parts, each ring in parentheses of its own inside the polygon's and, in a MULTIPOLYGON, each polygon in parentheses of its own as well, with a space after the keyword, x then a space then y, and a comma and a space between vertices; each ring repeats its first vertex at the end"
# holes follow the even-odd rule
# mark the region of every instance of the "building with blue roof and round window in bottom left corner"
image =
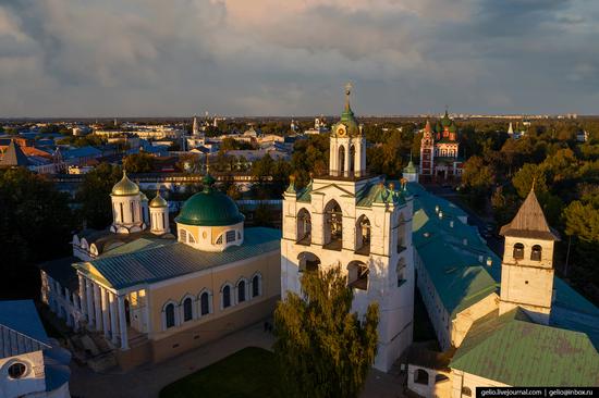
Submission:
POLYGON ((0 397, 69 398, 70 362, 33 300, 0 301, 0 397))

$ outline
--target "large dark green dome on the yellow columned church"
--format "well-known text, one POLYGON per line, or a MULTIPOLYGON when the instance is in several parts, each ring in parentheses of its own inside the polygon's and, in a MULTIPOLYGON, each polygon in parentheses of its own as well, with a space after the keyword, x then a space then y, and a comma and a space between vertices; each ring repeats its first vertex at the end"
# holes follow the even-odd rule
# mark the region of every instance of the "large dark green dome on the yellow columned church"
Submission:
POLYGON ((220 226, 237 224, 244 219, 233 199, 208 188, 187 199, 174 221, 186 225, 220 226))

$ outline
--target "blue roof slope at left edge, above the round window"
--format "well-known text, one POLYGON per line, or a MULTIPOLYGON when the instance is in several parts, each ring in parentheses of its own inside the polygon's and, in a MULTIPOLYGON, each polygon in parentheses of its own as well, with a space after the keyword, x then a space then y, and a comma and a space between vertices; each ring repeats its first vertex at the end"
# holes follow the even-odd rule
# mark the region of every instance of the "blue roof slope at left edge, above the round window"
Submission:
POLYGON ((33 300, 0 301, 0 358, 49 347, 33 300))

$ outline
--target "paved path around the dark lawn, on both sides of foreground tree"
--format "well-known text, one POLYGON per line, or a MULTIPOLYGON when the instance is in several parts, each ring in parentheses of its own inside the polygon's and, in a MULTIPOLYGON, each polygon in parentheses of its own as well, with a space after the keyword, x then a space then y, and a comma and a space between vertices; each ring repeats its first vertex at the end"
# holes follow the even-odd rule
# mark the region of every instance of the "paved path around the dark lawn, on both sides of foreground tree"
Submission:
MULTIPOLYGON (((71 363, 71 395, 80 398, 158 398, 162 387, 206 368, 245 347, 271 349, 273 337, 262 323, 235 332, 217 341, 158 364, 146 364, 127 373, 94 373, 71 363)), ((396 375, 370 371, 363 398, 401 397, 396 375)), ((266 398, 266 397, 265 397, 266 398)))

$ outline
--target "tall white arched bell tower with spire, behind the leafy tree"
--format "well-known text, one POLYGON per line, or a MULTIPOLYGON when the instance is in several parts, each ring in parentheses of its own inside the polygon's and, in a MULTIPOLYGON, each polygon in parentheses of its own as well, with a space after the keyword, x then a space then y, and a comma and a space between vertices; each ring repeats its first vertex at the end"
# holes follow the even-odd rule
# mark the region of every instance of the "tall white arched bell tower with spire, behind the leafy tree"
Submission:
POLYGON ((388 371, 412 343, 412 197, 366 169, 366 139, 349 102, 331 128, 326 175, 284 192, 281 293, 300 294, 303 273, 340 265, 353 310, 380 310, 375 368, 388 371))

